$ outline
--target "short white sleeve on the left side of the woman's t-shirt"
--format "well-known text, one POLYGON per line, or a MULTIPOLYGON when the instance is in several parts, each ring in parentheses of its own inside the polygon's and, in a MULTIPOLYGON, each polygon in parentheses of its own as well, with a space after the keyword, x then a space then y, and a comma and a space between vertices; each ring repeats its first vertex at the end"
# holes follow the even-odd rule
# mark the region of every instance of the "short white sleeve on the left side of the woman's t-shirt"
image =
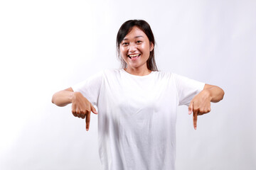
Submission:
POLYGON ((92 105, 97 106, 98 97, 100 94, 100 87, 102 84, 102 72, 85 79, 78 84, 71 86, 73 91, 78 91, 85 96, 92 105))

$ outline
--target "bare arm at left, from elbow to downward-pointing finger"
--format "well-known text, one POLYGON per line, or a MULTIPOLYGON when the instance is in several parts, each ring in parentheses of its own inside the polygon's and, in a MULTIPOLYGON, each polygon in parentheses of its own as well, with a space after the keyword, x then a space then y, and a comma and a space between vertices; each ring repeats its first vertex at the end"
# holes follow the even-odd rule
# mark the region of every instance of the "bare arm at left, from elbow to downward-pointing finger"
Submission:
POLYGON ((52 102, 57 106, 66 106, 69 103, 72 103, 73 115, 78 118, 85 118, 86 130, 89 130, 90 127, 91 111, 92 113, 97 114, 92 103, 82 96, 80 92, 74 92, 71 87, 53 94, 52 102))

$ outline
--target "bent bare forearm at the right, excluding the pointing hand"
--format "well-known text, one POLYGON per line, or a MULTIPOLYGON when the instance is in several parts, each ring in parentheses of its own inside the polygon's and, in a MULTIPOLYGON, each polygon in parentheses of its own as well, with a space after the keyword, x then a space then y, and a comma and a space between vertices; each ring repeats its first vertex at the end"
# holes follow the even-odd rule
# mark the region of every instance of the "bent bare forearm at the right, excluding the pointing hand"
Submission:
POLYGON ((206 84, 203 91, 206 91, 208 95, 210 96, 210 101, 213 103, 217 103, 218 101, 221 101, 224 96, 224 91, 218 86, 213 86, 206 84))

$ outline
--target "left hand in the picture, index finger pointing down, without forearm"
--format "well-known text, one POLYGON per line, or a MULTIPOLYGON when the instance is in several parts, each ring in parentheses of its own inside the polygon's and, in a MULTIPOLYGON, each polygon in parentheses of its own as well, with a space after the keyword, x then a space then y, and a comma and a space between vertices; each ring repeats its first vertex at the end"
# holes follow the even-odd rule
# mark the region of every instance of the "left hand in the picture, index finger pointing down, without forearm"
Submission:
POLYGON ((97 114, 96 109, 92 103, 87 100, 80 92, 74 92, 72 97, 72 113, 75 117, 85 118, 85 128, 88 131, 90 127, 90 113, 97 114))

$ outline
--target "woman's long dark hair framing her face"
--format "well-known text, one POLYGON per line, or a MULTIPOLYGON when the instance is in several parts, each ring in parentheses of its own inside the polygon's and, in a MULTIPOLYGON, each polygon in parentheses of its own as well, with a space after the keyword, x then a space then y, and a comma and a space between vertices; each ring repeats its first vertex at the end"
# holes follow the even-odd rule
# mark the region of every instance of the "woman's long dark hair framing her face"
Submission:
MULTIPOLYGON (((122 26, 119 28, 117 33, 117 54, 118 59, 120 60, 122 64, 122 68, 125 69, 127 67, 126 62, 124 62, 122 56, 120 56, 120 43, 122 40, 124 40, 124 37, 132 30, 134 26, 139 27, 149 38, 149 42, 151 42, 153 45, 155 45, 154 35, 153 32, 149 26, 149 23, 147 23, 144 20, 129 20, 122 24, 122 26)), ((151 71, 158 71, 156 67, 156 61, 154 57, 154 48, 149 53, 149 60, 146 61, 146 66, 151 71)))

